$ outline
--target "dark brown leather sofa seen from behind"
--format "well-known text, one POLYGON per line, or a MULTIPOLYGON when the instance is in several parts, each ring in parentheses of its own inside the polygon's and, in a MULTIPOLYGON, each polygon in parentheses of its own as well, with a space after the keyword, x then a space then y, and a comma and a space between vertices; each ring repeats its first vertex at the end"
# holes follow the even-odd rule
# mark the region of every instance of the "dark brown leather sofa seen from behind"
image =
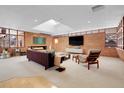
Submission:
POLYGON ((27 58, 30 61, 41 64, 45 70, 54 66, 54 53, 27 50, 27 58))

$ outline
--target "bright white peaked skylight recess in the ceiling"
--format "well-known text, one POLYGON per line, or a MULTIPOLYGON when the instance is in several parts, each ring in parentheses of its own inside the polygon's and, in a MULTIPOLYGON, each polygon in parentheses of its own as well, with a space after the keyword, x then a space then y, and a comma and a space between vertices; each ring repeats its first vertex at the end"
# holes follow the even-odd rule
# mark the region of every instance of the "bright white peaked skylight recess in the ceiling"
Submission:
POLYGON ((73 29, 65 24, 62 24, 58 21, 55 21, 54 19, 50 19, 42 24, 37 25, 33 28, 34 30, 38 30, 41 33, 52 33, 53 35, 59 34, 59 33, 69 33, 73 29))

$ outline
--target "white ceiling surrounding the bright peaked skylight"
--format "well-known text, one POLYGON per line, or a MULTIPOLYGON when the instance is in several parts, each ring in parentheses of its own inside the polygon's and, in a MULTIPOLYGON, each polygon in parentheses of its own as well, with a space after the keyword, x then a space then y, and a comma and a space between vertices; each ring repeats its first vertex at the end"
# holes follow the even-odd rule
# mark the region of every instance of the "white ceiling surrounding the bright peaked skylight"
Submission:
POLYGON ((70 33, 70 30, 41 31, 36 26, 50 19, 72 29, 71 32, 115 27, 124 15, 124 5, 105 5, 92 11, 92 5, 11 5, 0 6, 0 27, 14 28, 52 35, 70 33))

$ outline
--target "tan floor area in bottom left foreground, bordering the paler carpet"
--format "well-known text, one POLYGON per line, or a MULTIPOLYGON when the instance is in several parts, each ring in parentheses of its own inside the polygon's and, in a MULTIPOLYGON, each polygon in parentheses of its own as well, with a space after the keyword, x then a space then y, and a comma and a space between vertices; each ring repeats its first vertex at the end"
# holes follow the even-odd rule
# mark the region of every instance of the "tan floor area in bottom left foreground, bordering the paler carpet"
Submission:
POLYGON ((18 77, 0 82, 0 88, 57 88, 42 76, 18 77))

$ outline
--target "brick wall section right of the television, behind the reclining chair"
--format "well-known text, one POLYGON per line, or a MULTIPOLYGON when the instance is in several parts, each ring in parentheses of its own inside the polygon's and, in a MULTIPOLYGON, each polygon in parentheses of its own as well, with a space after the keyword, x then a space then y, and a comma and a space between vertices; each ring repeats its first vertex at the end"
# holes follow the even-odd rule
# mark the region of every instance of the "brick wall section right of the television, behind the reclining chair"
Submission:
POLYGON ((105 33, 104 32, 84 35, 83 50, 85 54, 87 54, 88 50, 91 48, 102 49, 101 55, 103 56, 118 57, 118 54, 115 48, 105 47, 105 33))

